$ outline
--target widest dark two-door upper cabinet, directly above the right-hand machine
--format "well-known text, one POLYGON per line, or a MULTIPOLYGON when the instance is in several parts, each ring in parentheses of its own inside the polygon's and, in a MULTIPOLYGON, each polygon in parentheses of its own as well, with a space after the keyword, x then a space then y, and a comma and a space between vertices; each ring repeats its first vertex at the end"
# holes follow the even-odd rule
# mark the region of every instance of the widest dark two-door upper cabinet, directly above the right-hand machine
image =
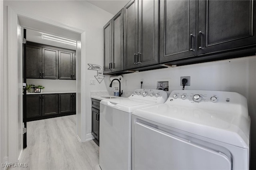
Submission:
POLYGON ((255 7, 252 0, 160 0, 160 63, 255 46, 255 7))

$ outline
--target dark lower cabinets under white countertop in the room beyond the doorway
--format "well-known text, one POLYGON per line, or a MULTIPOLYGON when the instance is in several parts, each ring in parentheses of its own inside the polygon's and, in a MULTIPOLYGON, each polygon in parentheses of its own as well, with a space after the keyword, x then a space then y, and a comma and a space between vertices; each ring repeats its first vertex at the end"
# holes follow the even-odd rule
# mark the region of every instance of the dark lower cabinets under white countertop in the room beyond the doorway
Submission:
POLYGON ((76 114, 76 93, 27 95, 27 121, 76 114))

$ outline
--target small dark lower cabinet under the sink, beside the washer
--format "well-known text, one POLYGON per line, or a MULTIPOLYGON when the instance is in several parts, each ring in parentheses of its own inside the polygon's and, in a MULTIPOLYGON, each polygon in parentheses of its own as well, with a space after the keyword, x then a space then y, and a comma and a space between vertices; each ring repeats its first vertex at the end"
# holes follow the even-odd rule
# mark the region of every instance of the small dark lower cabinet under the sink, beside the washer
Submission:
POLYGON ((92 99, 92 135, 100 138, 100 100, 92 99))

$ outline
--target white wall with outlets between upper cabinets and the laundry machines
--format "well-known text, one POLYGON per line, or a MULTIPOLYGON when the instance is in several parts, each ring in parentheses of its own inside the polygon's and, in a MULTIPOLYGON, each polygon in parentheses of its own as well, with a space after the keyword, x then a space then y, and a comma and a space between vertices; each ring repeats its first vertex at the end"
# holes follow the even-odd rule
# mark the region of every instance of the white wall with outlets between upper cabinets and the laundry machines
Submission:
MULTIPOLYGON (((184 65, 175 68, 157 69, 123 75, 121 89, 134 91, 140 88, 140 81, 144 79, 143 88, 156 88, 156 79, 170 79, 170 91, 181 90, 180 77, 190 76, 191 86, 188 90, 233 91, 247 98, 248 110, 251 117, 251 162, 256 162, 256 56, 228 59, 208 63, 184 65), (127 86, 125 86, 125 81, 127 86)), ((110 84, 109 78, 105 80, 110 84)), ((114 85, 112 86, 114 87, 114 85)), ((107 88, 111 91, 110 88, 107 88)), ((253 165, 255 169, 255 165, 253 165)))

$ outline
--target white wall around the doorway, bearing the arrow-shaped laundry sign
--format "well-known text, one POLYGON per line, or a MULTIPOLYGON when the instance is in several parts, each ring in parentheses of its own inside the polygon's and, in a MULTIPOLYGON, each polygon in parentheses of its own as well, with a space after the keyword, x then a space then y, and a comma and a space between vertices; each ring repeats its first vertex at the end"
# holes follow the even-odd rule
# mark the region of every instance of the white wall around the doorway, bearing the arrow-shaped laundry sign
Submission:
MULTIPOLYGON (((81 67, 87 67, 88 63, 101 65, 103 63, 102 58, 102 28, 108 22, 113 15, 101 10, 100 8, 86 2, 86 1, 4 1, 4 44, 8 44, 8 29, 7 29, 7 6, 13 6, 19 10, 26 11, 38 16, 55 20, 62 24, 70 25, 81 30, 86 30, 86 53, 81 57, 86 57, 86 64, 81 67)), ((4 65, 8 65, 8 47, 6 45, 4 49, 4 65)), ((78 63, 80 64, 80 63, 78 63)), ((94 78, 97 71, 87 70, 85 71, 85 82, 87 89, 85 95, 86 99, 81 105, 86 106, 86 134, 88 138, 91 136, 91 102, 90 91, 92 90, 106 90, 104 82, 101 84, 96 82, 96 85, 89 86, 89 79, 94 78)), ((4 87, 8 87, 8 68, 4 68, 4 87)), ((8 98, 8 93, 5 92, 5 98, 8 98)), ((4 103, 8 106, 8 103, 4 103)), ((5 117, 8 117, 8 109, 5 107, 5 117)), ((7 119, 7 118, 6 118, 7 119)), ((7 119, 8 121, 8 119, 7 119)), ((85 122, 84 122, 85 123, 85 122)), ((8 137, 8 125, 4 127, 5 137, 8 137)), ((82 138, 86 138, 86 134, 82 135, 82 138)), ((81 136, 79 136, 81 138, 81 136)), ((4 155, 8 155, 8 140, 5 140, 4 155)))

